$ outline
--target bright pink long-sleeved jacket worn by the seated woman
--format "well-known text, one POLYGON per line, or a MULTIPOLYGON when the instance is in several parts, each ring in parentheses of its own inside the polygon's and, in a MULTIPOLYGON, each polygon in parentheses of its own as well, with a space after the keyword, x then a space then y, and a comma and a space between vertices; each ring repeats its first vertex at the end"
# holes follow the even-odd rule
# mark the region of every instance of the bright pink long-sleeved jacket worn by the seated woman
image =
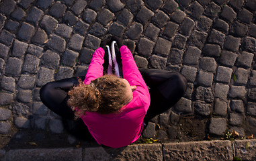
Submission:
MULTIPOLYGON (((148 88, 136 66, 132 53, 126 46, 122 46, 120 52, 123 76, 130 85, 137 87, 133 92, 132 101, 122 107, 124 109, 121 113, 103 115, 96 112, 86 112, 81 117, 97 143, 112 148, 127 146, 138 140, 144 126, 143 119, 151 101, 148 88)), ((103 56, 103 48, 95 50, 85 76, 85 85, 102 76, 103 56)))

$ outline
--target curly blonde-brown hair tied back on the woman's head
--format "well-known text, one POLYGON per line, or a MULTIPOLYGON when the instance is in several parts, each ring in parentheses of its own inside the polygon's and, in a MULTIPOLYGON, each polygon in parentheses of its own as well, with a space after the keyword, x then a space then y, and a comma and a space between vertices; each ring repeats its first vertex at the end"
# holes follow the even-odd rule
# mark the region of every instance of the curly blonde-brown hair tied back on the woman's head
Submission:
POLYGON ((85 115, 85 112, 101 114, 115 113, 126 105, 126 85, 114 75, 104 75, 85 85, 79 80, 79 85, 68 93, 68 105, 75 111, 75 119, 85 115), (78 109, 78 110, 76 110, 78 109))

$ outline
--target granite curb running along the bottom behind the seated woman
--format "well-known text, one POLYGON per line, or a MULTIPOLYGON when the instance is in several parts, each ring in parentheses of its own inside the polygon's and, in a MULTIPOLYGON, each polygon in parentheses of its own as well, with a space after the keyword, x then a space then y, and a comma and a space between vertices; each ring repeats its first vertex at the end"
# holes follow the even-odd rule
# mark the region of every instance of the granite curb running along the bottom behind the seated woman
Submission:
POLYGON ((0 161, 15 160, 242 160, 256 159, 256 140, 212 140, 135 144, 124 148, 53 148, 0 150, 0 161))

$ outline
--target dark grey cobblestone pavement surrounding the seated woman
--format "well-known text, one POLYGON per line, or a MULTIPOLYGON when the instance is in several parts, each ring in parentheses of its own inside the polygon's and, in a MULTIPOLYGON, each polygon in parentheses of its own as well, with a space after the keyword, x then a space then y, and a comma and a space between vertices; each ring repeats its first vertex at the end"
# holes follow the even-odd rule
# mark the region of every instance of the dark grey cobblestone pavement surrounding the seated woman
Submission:
POLYGON ((38 92, 85 75, 108 34, 124 38, 139 67, 188 80, 185 96, 148 123, 144 138, 204 140, 226 129, 256 135, 255 11, 255 0, 2 0, 2 145, 77 144, 38 92))

